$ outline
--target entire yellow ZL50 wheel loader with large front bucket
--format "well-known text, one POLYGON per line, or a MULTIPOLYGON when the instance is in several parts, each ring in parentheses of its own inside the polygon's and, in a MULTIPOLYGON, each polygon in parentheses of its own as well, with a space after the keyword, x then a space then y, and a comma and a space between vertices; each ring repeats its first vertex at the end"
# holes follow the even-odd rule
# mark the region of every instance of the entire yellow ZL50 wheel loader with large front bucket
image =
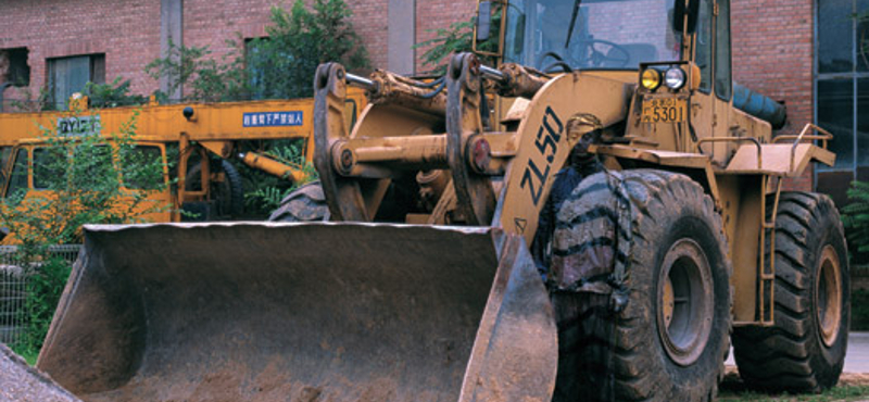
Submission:
POLYGON ((781 189, 832 136, 734 90, 729 1, 477 21, 496 68, 318 68, 285 206, 330 222, 88 227, 38 367, 86 401, 707 401, 732 339, 753 387, 835 385, 842 225, 781 189))

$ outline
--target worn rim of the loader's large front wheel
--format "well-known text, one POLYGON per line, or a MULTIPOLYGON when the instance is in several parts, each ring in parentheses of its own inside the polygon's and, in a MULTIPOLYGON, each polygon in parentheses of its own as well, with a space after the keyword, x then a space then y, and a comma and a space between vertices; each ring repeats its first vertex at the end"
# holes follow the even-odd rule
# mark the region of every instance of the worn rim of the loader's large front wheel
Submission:
POLYGON ((709 262, 694 240, 680 239, 667 251, 658 278, 658 335, 670 359, 688 366, 700 357, 713 323, 709 262))

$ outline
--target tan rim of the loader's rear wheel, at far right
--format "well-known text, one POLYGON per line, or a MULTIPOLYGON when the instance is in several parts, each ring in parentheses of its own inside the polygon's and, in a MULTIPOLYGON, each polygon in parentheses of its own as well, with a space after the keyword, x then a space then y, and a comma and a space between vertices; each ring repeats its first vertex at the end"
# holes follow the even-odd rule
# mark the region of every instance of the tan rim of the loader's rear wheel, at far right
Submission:
POLYGON ((832 347, 842 326, 842 275, 839 254, 832 244, 821 252, 818 277, 815 280, 815 300, 818 307, 818 326, 823 344, 832 347))

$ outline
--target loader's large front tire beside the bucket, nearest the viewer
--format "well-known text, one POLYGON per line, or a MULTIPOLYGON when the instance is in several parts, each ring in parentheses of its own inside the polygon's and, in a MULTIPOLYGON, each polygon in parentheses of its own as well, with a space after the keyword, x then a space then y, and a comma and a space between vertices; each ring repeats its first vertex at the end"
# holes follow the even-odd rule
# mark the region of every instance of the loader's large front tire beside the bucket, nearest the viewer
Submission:
MULTIPOLYGON (((554 255, 569 259, 577 250, 575 262, 581 263, 583 246, 571 241, 600 243, 626 230, 617 223, 609 234, 601 229, 606 227, 601 218, 612 223, 618 213, 607 175, 588 177, 564 202, 554 255)), ((576 374, 559 363, 557 400, 711 400, 730 332, 731 265, 720 215, 687 176, 652 169, 621 176, 632 204, 629 300, 616 313, 607 305, 613 301, 601 294, 580 292, 577 301, 566 302, 569 293, 554 293, 559 360, 577 362, 576 374), (581 386, 572 386, 578 388, 574 395, 559 394, 570 382, 581 386)))

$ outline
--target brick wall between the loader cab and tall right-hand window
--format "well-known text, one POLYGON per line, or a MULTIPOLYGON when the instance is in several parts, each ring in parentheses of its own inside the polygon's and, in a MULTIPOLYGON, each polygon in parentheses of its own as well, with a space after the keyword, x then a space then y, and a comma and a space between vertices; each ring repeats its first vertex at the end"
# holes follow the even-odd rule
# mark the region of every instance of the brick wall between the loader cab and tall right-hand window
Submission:
MULTIPOLYGON (((779 134, 799 134, 814 122, 814 1, 733 0, 733 78, 788 106, 779 134)), ((786 189, 811 190, 811 172, 786 189)))

